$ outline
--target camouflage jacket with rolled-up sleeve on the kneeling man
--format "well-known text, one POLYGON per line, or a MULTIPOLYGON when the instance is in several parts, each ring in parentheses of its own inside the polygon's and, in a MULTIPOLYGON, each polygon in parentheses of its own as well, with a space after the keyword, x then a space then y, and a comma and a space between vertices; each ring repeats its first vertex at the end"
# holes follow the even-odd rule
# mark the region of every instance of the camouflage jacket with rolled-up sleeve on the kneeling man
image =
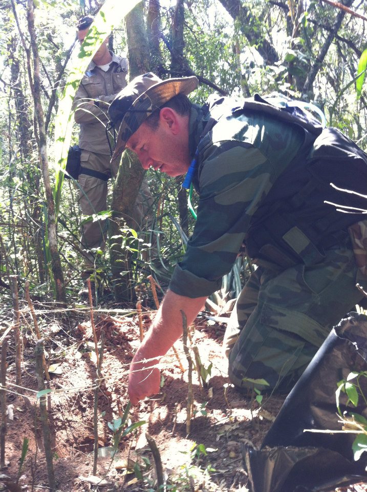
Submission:
POLYGON ((191 108, 190 152, 193 156, 199 151, 193 180, 200 195, 198 218, 169 285, 173 292, 191 298, 220 289, 251 218, 304 139, 301 129, 262 113, 232 114, 226 103, 206 110, 191 108), (218 122, 200 140, 210 117, 218 122))

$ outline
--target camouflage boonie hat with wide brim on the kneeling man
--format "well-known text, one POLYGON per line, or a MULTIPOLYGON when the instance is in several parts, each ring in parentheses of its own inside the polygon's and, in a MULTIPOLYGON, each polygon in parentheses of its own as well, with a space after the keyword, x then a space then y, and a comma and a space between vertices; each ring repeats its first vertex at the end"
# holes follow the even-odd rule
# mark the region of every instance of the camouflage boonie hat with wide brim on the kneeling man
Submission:
POLYGON ((189 94, 198 87, 196 77, 162 80, 152 72, 135 77, 112 101, 108 110, 110 119, 120 129, 112 161, 122 154, 127 140, 143 121, 177 94, 189 94))

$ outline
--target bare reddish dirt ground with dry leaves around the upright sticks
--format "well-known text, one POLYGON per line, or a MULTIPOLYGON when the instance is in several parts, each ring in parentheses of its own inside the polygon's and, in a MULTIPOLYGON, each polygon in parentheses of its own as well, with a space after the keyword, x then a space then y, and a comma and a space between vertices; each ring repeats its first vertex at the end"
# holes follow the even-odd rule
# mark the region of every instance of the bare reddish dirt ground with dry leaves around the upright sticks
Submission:
MULTIPOLYGON (((143 314, 144 331, 153 315, 152 311, 143 314)), ((111 459, 114 439, 111 427, 113 421, 123 415, 128 403, 127 370, 140 343, 139 325, 135 313, 122 315, 116 311, 96 312, 95 321, 97 336, 102 329, 105 332, 98 394, 98 480, 92 477, 97 374, 90 314, 70 311, 58 321, 43 325, 50 347, 46 355, 52 392, 47 398, 57 490, 156 490, 154 459, 146 440, 148 433, 159 449, 167 490, 247 492, 248 477, 242 465, 240 445, 242 442, 254 446, 261 443, 284 398, 264 397, 258 413, 256 401, 238 393, 229 384, 221 353, 225 326, 208 322, 204 317, 196 322, 192 343, 198 347, 203 367, 208 368, 209 364, 212 367, 205 388, 200 386, 198 375, 193 372, 194 405, 189 435, 186 432, 188 362, 180 341, 176 348, 184 373, 170 351, 161 361, 161 393, 132 407, 124 428, 141 421, 145 423, 121 437, 118 453, 111 459)), ((21 388, 13 385, 15 350, 12 340, 7 356, 7 467, 2 473, 10 478, 0 482, 0 490, 8 487, 11 492, 48 489, 39 400, 36 399, 34 341, 29 326, 24 325, 23 334, 23 395, 19 394, 21 388), (15 484, 24 438, 29 439, 29 449, 18 484, 15 484)), ((358 484, 337 490, 364 492, 367 486, 358 484)))

